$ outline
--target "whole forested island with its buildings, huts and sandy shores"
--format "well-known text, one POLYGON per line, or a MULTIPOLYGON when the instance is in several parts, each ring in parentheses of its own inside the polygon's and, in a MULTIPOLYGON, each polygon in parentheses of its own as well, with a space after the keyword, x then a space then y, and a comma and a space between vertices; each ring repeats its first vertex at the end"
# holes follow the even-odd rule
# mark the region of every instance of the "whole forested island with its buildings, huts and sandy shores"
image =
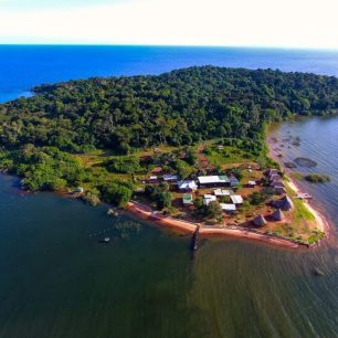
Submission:
POLYGON ((0 105, 0 170, 23 189, 191 232, 305 245, 324 236, 265 139, 274 122, 337 114, 334 76, 200 66, 33 92, 0 105))

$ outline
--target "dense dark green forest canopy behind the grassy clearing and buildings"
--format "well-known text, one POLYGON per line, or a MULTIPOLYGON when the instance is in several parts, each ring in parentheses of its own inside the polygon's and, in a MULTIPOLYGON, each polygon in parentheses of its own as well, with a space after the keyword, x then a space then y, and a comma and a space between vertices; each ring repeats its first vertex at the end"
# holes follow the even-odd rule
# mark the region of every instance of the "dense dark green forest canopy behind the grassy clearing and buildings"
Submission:
POLYGON ((127 154, 233 138, 258 152, 264 125, 338 112, 338 78, 272 70, 190 67, 159 76, 71 81, 0 106, 0 146, 127 154))

